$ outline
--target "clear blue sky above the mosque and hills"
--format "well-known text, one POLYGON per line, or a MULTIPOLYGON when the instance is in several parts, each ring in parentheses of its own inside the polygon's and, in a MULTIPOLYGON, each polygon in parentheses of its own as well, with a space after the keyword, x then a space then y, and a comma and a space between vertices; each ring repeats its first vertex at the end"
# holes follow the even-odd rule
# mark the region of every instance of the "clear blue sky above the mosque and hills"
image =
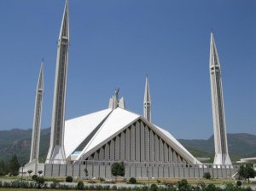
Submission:
MULTIPOLYGON (((0 130, 32 127, 44 57, 42 127, 51 122, 63 0, 0 6, 0 130)), ((70 0, 67 113, 108 107, 120 88, 143 113, 148 73, 154 124, 177 138, 212 136, 210 28, 222 67, 227 131, 256 134, 256 1, 70 0)))

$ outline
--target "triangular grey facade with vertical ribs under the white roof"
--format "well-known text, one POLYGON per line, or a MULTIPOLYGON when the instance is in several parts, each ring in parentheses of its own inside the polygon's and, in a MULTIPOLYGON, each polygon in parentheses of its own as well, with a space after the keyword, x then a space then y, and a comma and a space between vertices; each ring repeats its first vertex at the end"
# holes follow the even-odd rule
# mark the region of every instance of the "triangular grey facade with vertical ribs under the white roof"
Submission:
POLYGON ((84 161, 122 159, 128 162, 194 163, 184 153, 174 149, 165 137, 160 136, 143 120, 135 121, 125 130, 120 131, 117 136, 108 140, 101 148, 97 148, 96 152, 90 155, 84 153, 82 158, 84 161), (146 134, 149 134, 149 137, 146 134), (145 144, 150 149, 145 148, 145 144))

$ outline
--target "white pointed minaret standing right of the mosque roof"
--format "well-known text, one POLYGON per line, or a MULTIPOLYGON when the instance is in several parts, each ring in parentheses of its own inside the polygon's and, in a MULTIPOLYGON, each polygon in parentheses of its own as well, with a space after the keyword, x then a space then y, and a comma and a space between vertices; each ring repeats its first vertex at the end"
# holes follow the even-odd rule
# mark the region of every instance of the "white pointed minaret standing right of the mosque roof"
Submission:
POLYGON ((210 47, 210 78, 212 90, 212 117, 215 146, 215 158, 213 164, 231 165, 231 160, 228 153, 220 63, 218 60, 217 48, 212 31, 210 47))

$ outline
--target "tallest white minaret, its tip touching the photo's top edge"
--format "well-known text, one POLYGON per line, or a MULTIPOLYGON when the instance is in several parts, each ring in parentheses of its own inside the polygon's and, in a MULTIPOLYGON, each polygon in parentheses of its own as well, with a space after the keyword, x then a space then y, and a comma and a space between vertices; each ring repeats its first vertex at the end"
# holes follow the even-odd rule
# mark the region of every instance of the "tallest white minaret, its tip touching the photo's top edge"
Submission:
POLYGON ((55 91, 52 111, 49 152, 46 163, 66 163, 64 150, 67 59, 69 46, 68 2, 66 0, 58 39, 55 91))

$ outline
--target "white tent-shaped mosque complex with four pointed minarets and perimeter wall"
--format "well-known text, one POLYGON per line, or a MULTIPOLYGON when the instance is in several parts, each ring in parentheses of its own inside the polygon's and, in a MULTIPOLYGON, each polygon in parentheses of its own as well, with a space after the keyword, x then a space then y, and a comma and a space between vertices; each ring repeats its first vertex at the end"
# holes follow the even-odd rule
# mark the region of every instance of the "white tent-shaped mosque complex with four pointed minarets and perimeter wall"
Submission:
POLYGON ((45 163, 39 164, 44 95, 42 61, 36 90, 31 156, 25 165, 26 171, 32 170, 35 174, 39 170, 44 171, 44 176, 81 177, 85 166, 90 177, 111 177, 111 165, 123 161, 125 177, 201 177, 205 171, 211 172, 212 177, 232 174, 235 169, 231 168, 233 165, 228 153, 221 70, 212 32, 210 43, 215 159, 213 165, 205 165, 170 132, 151 122, 148 77, 144 90, 143 115, 126 110, 125 99, 119 98, 117 89, 109 100, 108 108, 75 119, 65 119, 69 48, 66 1, 57 46, 49 152, 45 163))

